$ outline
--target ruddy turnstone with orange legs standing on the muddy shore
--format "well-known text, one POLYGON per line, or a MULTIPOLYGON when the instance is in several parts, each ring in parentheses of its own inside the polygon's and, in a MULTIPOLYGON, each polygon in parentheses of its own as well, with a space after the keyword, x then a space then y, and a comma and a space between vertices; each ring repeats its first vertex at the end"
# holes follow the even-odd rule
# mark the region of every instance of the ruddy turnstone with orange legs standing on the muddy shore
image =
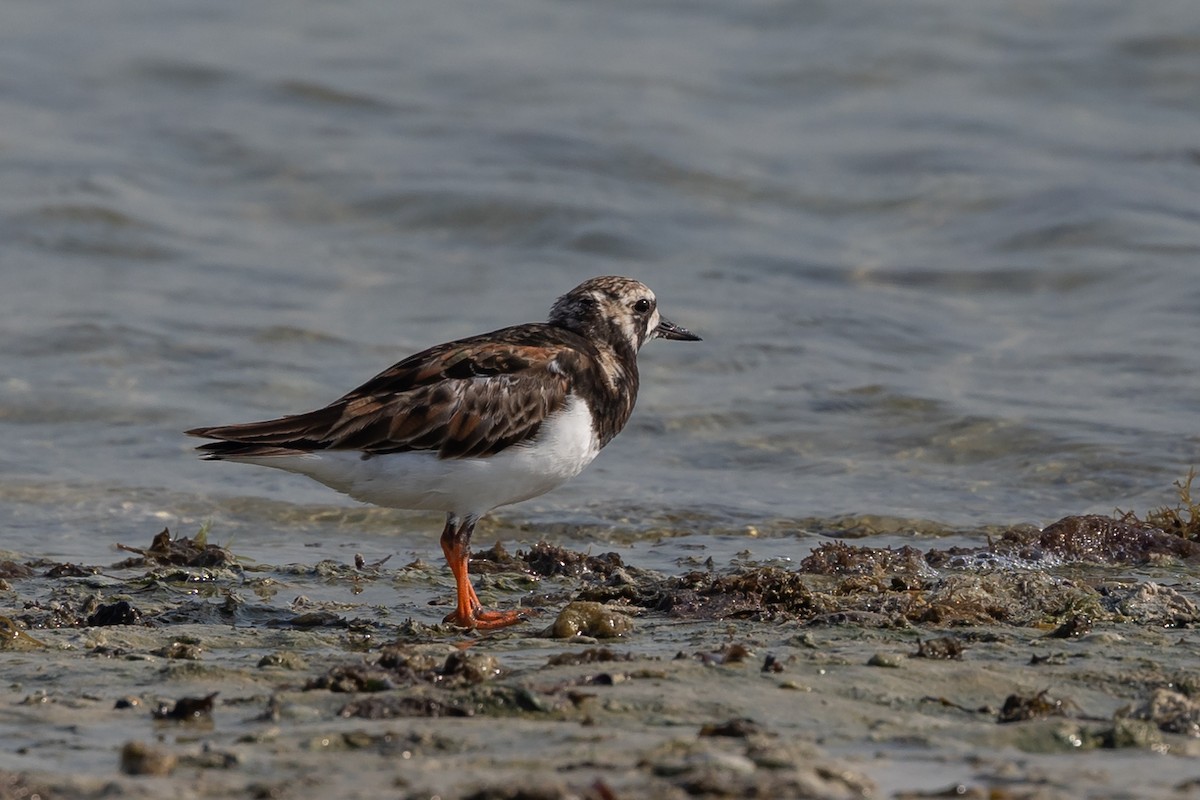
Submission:
POLYGON ((442 552, 457 607, 446 622, 497 628, 528 610, 485 610, 467 573, 481 516, 580 471, 620 433, 637 399, 649 339, 698 341, 659 315, 654 293, 592 278, 545 323, 504 327, 410 355, 329 405, 244 425, 193 428, 198 450, 300 473, 349 497, 444 511, 442 552))

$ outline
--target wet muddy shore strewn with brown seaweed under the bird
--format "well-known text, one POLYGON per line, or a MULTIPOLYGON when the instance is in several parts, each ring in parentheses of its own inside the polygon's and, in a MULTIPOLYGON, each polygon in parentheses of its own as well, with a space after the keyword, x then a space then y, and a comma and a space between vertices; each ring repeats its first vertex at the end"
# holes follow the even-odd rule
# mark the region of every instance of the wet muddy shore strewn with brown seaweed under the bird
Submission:
POLYGON ((485 602, 540 613, 486 636, 440 565, 10 554, 0 798, 1200 796, 1195 554, 1122 524, 677 576, 493 548, 485 602))

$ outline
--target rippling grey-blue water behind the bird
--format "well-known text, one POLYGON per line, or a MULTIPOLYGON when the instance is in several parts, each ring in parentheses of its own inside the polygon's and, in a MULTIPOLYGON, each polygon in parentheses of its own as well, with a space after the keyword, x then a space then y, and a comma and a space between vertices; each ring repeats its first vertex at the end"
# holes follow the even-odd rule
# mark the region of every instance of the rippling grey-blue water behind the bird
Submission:
POLYGON ((602 273, 704 342, 505 536, 1146 510, 1200 463, 1198 257, 1193 0, 7 2, 2 548, 432 559, 437 517, 180 432, 602 273))

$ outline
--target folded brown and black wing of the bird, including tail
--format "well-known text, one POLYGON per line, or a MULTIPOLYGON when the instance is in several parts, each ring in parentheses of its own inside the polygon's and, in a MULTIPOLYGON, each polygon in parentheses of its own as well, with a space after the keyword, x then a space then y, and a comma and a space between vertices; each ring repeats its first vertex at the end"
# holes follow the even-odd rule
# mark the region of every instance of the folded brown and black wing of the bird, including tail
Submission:
POLYGON ((314 450, 491 456, 536 435, 578 369, 568 331, 521 325, 404 359, 323 409, 187 433, 211 458, 314 450))

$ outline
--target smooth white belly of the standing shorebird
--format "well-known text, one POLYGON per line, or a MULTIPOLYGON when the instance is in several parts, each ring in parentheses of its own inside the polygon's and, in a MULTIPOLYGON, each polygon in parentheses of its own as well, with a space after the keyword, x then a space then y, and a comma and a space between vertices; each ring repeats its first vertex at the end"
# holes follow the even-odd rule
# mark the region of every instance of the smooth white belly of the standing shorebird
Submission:
POLYGON ((542 423, 535 440, 486 458, 438 458, 430 451, 364 457, 326 450, 256 463, 301 473, 364 503, 482 515, 545 494, 578 475, 599 451, 590 411, 571 398, 542 423))

